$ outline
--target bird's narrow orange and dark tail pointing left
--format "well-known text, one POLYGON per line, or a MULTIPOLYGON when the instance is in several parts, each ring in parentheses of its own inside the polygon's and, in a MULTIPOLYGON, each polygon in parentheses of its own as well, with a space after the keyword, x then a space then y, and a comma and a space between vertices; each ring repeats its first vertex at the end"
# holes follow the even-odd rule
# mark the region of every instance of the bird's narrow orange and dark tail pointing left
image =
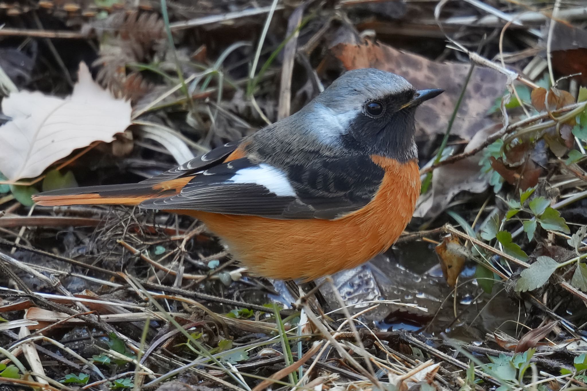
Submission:
POLYGON ((54 190, 33 195, 32 199, 41 206, 139 205, 147 199, 177 194, 192 178, 193 176, 189 176, 161 183, 130 183, 54 190))

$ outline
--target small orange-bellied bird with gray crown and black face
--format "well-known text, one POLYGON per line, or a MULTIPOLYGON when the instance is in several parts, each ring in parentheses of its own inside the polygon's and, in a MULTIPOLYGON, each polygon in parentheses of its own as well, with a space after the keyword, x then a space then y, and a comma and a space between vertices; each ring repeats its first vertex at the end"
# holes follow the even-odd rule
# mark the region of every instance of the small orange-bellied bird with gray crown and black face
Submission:
POLYGON ((442 92, 349 70, 289 117, 152 178, 33 200, 192 216, 250 273, 310 281, 386 251, 410 222, 420 193, 414 115, 442 92))

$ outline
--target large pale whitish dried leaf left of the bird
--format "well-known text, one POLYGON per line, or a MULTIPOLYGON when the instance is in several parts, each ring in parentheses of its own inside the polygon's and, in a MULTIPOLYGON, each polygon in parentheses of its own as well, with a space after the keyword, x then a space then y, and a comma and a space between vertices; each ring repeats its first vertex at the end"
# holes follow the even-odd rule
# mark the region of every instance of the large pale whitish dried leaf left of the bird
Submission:
POLYGON ((83 62, 70 96, 21 91, 2 101, 2 111, 12 120, 0 127, 0 172, 13 181, 41 175, 74 149, 113 141, 131 123, 130 102, 103 90, 83 62))

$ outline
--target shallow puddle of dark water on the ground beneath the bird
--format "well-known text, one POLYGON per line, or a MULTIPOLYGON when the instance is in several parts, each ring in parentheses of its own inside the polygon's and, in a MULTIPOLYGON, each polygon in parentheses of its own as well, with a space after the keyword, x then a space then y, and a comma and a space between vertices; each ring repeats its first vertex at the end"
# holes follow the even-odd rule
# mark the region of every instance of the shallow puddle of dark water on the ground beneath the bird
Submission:
MULTIPOLYGON (((366 314, 365 319, 383 330, 426 331, 433 335, 445 332, 453 338, 475 343, 500 326, 506 332, 515 330, 515 323, 508 321, 524 321, 523 311, 519 314, 517 302, 507 297, 503 285, 495 284, 492 295, 480 294, 481 289, 473 280, 474 263, 461 273, 454 303, 453 289, 448 287, 437 265, 432 244, 412 242, 334 278, 346 304, 363 303, 361 308, 365 308, 367 301, 398 300, 428 310, 381 305, 366 314)), ((329 288, 324 288, 322 294, 332 308, 339 307, 332 300, 329 288)))

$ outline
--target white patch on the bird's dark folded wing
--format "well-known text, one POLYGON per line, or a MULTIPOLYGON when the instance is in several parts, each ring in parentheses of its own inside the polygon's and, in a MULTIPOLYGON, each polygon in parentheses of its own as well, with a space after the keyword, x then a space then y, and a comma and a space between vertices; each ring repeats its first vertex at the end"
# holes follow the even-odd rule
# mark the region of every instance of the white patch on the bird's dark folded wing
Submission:
POLYGON ((296 192, 280 169, 261 163, 258 166, 239 169, 227 182, 251 183, 264 186, 281 197, 295 197, 296 192))

